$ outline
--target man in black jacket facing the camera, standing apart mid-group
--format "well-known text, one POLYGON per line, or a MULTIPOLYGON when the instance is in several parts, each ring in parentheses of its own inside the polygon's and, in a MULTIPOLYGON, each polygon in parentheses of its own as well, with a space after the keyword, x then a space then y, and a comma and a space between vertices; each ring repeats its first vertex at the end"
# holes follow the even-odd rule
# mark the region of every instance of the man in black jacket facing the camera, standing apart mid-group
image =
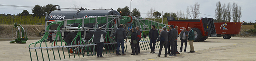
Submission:
POLYGON ((158 36, 159 36, 159 33, 158 33, 158 30, 155 29, 155 25, 151 25, 151 29, 149 30, 149 39, 150 39, 149 46, 151 49, 150 53, 155 53, 155 42, 158 36), (152 43, 153 43, 153 46, 152 46, 152 43))

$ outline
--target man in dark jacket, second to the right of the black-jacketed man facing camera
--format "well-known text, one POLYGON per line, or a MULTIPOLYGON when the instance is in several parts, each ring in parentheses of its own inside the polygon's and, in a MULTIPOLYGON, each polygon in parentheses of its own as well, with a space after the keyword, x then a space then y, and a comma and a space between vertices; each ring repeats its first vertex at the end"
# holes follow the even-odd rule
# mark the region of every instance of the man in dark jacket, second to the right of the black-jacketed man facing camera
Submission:
POLYGON ((176 55, 175 41, 176 41, 178 34, 177 34, 177 30, 173 28, 174 27, 173 25, 170 25, 169 27, 172 28, 168 32, 168 41, 170 41, 171 50, 172 50, 171 55, 169 55, 169 56, 175 56, 176 55))

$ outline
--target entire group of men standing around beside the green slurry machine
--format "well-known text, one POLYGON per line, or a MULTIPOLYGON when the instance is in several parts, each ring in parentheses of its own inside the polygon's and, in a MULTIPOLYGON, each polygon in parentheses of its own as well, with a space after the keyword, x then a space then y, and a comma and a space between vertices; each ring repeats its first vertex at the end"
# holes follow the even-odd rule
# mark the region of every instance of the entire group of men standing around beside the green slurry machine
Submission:
MULTIPOLYGON (((141 33, 142 31, 140 30, 140 27, 136 27, 136 29, 132 28, 129 29, 132 32, 131 35, 131 48, 132 48, 132 54, 131 55, 138 55, 140 53, 140 47, 139 47, 139 42, 141 40, 141 33)), ((167 27, 163 27, 163 30, 160 30, 160 35, 158 33, 158 30, 155 29, 155 25, 151 25, 151 29, 149 31, 149 38, 150 38, 150 53, 155 53, 155 43, 156 41, 160 41, 160 50, 158 53, 158 57, 160 57, 162 48, 164 46, 165 49, 165 54, 164 56, 166 57, 167 54, 169 56, 176 56, 176 53, 179 53, 177 51, 177 38, 178 38, 178 26, 174 25, 169 25, 169 31, 167 32, 167 27), (170 51, 170 46, 171 46, 171 51, 170 51)), ((193 46, 193 41, 194 41, 194 31, 188 27, 188 30, 184 28, 181 33, 180 33, 180 40, 181 40, 181 47, 180 47, 180 52, 182 52, 182 46, 183 43, 185 42, 185 49, 184 52, 186 52, 186 44, 187 41, 190 44, 190 52, 195 52, 194 51, 194 46, 193 46)), ((89 33, 94 34, 92 42, 96 43, 98 48, 97 48, 97 57, 103 57, 102 56, 102 48, 103 48, 103 42, 104 42, 104 37, 106 36, 106 31, 102 30, 102 28, 98 28, 94 31, 89 31, 89 33)), ((116 32, 110 37, 116 36, 117 39, 117 48, 116 48, 116 55, 121 55, 119 53, 119 47, 121 45, 122 48, 122 55, 126 55, 124 53, 124 39, 127 42, 127 37, 124 29, 124 25, 120 24, 119 28, 116 29, 116 32)))

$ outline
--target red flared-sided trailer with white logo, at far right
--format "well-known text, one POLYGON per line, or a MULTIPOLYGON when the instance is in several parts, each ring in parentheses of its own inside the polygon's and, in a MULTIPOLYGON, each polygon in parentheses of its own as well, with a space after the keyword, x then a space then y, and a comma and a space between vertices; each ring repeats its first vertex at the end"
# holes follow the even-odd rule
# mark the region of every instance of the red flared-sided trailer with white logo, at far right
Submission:
POLYGON ((231 36, 235 36, 240 33, 243 23, 214 23, 217 33, 217 37, 224 39, 230 39, 231 36))

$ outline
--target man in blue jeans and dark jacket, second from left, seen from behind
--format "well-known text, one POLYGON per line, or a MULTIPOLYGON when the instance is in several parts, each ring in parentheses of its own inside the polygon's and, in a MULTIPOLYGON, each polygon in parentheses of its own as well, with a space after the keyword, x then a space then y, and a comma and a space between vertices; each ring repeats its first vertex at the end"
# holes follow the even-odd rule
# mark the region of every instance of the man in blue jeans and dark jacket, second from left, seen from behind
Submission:
POLYGON ((126 39, 126 42, 127 42, 127 37, 126 37, 126 33, 125 33, 125 29, 124 29, 124 25, 123 24, 120 24, 120 28, 117 28, 116 29, 116 32, 110 37, 114 37, 116 36, 117 37, 117 48, 116 48, 116 55, 121 55, 119 53, 119 48, 120 48, 120 43, 121 43, 121 48, 122 48, 122 53, 123 55, 124 54, 124 39, 126 39))

